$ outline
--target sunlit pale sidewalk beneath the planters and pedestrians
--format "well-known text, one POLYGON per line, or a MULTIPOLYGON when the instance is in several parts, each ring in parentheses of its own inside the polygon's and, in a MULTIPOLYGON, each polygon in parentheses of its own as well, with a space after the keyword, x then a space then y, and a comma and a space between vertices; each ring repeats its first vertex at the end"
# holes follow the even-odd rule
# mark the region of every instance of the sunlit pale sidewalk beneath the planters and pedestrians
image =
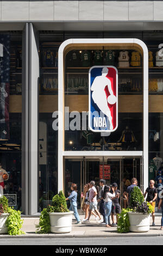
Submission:
MULTIPOLYGON (((81 220, 84 216, 80 215, 81 220)), ((145 233, 117 233, 116 227, 106 228, 105 225, 96 222, 95 217, 92 216, 90 223, 82 223, 76 225, 76 220, 73 217, 72 231, 67 234, 35 234, 35 224, 39 223, 39 217, 23 217, 23 227, 22 230, 26 232, 24 235, 10 236, 10 235, 0 235, 3 238, 57 238, 57 237, 128 237, 128 236, 163 236, 163 230, 160 229, 161 216, 155 217, 155 227, 152 226, 151 217, 151 227, 148 232, 145 233)))

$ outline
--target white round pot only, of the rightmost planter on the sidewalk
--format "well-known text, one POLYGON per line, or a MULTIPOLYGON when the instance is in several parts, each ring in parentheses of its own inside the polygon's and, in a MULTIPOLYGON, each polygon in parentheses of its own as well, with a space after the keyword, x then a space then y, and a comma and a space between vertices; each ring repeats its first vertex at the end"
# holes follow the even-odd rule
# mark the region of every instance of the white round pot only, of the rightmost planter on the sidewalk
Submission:
POLYGON ((150 214, 128 212, 131 232, 147 232, 150 228, 150 214))

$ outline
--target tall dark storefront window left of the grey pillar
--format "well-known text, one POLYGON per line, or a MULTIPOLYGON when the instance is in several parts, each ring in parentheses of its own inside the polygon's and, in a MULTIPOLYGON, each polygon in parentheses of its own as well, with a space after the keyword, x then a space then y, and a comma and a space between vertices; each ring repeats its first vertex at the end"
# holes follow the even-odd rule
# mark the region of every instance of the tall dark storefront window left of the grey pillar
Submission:
POLYGON ((21 210, 22 33, 0 33, 0 189, 21 210))

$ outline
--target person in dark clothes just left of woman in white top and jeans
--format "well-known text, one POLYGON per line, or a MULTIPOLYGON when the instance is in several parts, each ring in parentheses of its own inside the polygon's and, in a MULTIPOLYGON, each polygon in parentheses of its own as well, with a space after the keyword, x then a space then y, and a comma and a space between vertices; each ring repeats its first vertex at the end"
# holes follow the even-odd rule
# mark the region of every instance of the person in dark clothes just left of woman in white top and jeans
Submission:
POLYGON ((101 224, 105 225, 105 202, 104 202, 104 187, 105 187, 105 180, 101 179, 99 181, 99 186, 101 186, 101 190, 99 192, 99 212, 101 213, 101 215, 103 216, 103 222, 101 224))

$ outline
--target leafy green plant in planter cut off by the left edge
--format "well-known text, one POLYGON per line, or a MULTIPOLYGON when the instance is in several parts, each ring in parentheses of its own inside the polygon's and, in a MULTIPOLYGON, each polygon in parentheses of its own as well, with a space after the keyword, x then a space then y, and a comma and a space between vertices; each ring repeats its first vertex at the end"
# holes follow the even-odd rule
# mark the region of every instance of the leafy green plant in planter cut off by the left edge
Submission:
POLYGON ((5 196, 0 198, 0 234, 21 235, 23 220, 21 212, 9 207, 5 196))

